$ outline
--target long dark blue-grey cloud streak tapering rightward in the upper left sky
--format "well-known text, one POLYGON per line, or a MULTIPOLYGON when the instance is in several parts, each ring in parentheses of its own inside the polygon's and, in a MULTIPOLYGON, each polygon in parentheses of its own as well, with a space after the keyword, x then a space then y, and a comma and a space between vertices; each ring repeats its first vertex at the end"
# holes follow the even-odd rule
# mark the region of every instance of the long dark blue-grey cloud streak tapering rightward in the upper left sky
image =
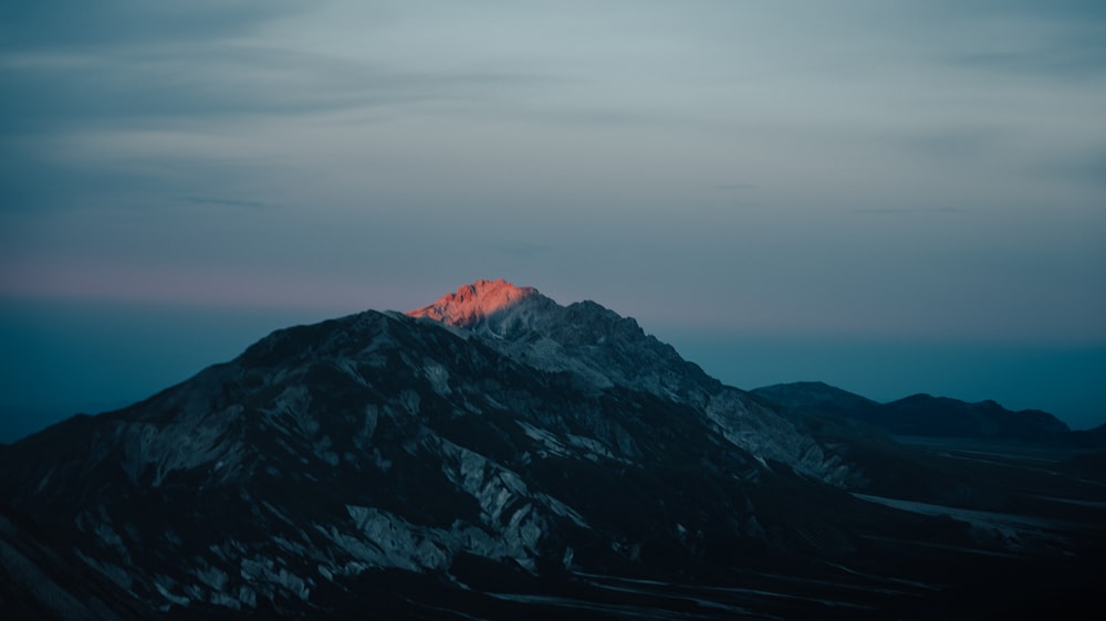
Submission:
POLYGON ((493 73, 403 73, 371 62, 271 48, 158 45, 123 55, 28 55, 0 65, 12 94, 6 134, 81 125, 150 126, 303 115, 473 97, 517 80, 493 73))

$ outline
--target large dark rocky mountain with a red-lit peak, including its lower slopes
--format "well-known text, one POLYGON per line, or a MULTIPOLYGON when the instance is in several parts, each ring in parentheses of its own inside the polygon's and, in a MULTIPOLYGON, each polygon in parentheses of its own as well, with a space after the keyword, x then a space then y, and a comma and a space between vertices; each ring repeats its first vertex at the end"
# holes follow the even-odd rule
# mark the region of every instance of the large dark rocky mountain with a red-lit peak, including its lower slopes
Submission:
POLYGON ((1089 475, 1058 485, 1016 462, 973 481, 959 461, 826 438, 634 319, 480 281, 278 330, 0 446, 0 560, 19 577, 0 609, 979 618, 1011 585, 1099 576, 1089 475), (949 476, 991 504, 933 504, 949 476), (899 478, 939 483, 895 496, 899 478), (1032 517, 979 511, 1003 507, 1032 517))

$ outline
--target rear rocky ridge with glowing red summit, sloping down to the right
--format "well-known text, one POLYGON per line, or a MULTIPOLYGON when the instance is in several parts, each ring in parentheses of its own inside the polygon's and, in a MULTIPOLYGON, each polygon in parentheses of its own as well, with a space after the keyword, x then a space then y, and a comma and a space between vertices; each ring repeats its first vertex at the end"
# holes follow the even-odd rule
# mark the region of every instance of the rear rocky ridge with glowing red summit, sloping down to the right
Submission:
POLYGON ((567 373, 594 393, 623 387, 692 408, 734 445, 812 477, 842 484, 849 476, 839 460, 776 412, 594 302, 560 306, 532 287, 480 281, 407 315, 463 326, 460 336, 474 336, 520 365, 567 373), (484 294, 490 302, 481 301, 484 294))

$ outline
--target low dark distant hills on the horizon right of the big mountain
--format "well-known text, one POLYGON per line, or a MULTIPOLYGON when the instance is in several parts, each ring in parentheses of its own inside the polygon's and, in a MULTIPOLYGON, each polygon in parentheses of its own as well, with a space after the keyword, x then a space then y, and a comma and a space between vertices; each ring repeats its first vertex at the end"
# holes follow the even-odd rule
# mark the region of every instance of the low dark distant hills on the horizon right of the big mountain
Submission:
POLYGON ((877 403, 822 382, 782 383, 758 388, 752 393, 791 412, 847 417, 896 435, 1034 442, 1072 439, 1067 425, 1047 412, 1013 412, 994 401, 968 403, 947 397, 914 394, 890 403, 877 403))

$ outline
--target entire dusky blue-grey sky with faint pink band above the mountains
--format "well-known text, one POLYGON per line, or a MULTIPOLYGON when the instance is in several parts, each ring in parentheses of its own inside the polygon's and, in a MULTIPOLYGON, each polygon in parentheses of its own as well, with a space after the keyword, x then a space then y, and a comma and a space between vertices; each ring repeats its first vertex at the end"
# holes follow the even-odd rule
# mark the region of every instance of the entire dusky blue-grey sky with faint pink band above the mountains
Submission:
POLYGON ((1098 0, 9 0, 0 441, 498 277, 1099 424, 1103 110, 1098 0))

